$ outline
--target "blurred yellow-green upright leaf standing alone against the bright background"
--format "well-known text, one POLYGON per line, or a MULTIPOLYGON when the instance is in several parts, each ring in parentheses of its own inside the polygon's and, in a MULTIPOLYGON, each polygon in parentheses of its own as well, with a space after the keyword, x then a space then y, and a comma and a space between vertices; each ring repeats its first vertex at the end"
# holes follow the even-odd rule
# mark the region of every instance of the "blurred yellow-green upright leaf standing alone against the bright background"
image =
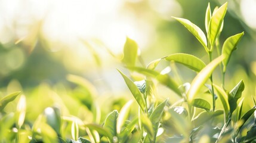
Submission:
POLYGON ((127 66, 134 66, 138 55, 138 45, 132 39, 127 37, 124 45, 124 58, 123 62, 127 66))

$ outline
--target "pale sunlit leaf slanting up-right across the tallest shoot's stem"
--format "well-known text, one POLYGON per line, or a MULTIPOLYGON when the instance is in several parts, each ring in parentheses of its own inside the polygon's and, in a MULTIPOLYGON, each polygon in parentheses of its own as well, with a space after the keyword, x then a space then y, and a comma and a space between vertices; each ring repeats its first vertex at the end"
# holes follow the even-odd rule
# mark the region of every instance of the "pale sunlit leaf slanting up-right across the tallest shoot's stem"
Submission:
POLYGON ((203 86, 206 80, 209 79, 214 69, 221 63, 223 57, 220 56, 215 58, 215 60, 211 61, 205 68, 203 68, 198 75, 193 79, 190 89, 187 93, 188 101, 192 104, 192 100, 196 94, 198 94, 199 89, 203 86))

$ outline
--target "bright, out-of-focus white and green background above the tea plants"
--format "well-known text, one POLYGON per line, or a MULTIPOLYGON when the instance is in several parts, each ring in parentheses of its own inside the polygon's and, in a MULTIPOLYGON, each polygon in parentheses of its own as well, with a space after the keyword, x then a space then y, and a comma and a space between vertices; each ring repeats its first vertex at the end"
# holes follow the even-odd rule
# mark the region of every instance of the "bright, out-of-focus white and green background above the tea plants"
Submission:
MULTIPOLYGON (((26 91, 42 83, 69 84, 67 75, 76 74, 90 81, 99 94, 127 90, 116 70, 124 70, 126 37, 138 43, 145 64, 175 52, 193 54, 208 63, 201 44, 172 18, 189 19, 205 32, 208 2, 214 10, 226 1, 1 0, 0 88, 26 91)), ((221 43, 237 33, 245 31, 245 35, 230 60, 227 86, 243 78, 254 95, 256 1, 228 2, 221 43)), ((195 73, 180 68, 184 82, 191 82, 195 73)))

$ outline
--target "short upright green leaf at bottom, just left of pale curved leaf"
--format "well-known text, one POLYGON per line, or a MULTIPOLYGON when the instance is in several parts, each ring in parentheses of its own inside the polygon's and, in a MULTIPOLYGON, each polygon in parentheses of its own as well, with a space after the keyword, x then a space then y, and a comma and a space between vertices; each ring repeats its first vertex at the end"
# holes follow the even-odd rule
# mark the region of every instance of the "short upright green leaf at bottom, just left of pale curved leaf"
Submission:
POLYGON ((104 122, 103 128, 106 130, 109 130, 109 132, 112 135, 111 138, 113 138, 113 136, 116 136, 117 119, 118 119, 118 111, 114 110, 111 113, 109 113, 109 115, 107 115, 106 120, 104 122))

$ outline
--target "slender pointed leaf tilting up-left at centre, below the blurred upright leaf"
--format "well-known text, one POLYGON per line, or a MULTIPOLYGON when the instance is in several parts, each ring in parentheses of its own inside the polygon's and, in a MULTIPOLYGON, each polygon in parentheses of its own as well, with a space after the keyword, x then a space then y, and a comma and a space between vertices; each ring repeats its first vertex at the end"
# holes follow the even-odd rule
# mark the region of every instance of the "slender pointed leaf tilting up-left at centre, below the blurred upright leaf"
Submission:
POLYGON ((121 73, 122 77, 125 80, 125 83, 127 83, 127 86, 129 88, 129 90, 131 91, 133 97, 135 98, 135 100, 138 102, 138 105, 140 105, 141 109, 144 110, 146 107, 146 102, 143 98, 143 94, 141 94, 140 90, 137 88, 137 86, 132 82, 131 79, 129 79, 129 77, 125 76, 124 73, 122 73, 122 71, 118 70, 119 73, 121 73))

